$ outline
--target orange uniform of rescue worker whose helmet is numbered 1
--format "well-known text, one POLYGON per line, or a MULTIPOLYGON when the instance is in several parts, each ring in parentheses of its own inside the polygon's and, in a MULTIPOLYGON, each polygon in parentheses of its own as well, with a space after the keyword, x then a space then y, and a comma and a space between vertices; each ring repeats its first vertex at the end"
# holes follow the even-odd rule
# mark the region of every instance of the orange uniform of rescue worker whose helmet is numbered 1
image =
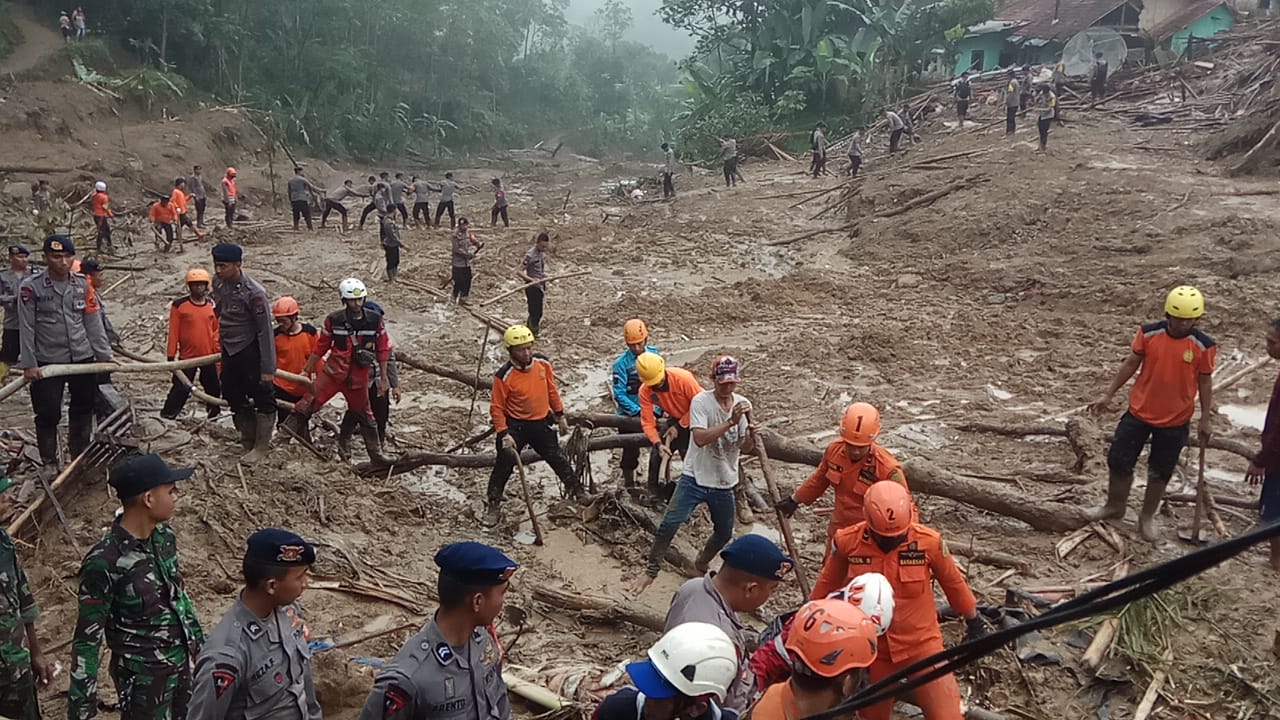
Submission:
POLYGON ((823 451, 822 462, 809 475, 809 479, 796 488, 795 498, 800 505, 813 505, 827 492, 827 488, 836 488, 836 511, 832 512, 831 521, 827 523, 829 544, 836 530, 861 523, 867 518, 863 510, 863 496, 867 495, 867 488, 881 480, 908 487, 902 464, 893 457, 892 452, 879 445, 872 445, 870 451, 861 460, 854 462, 845 454, 845 441, 836 439, 823 451))

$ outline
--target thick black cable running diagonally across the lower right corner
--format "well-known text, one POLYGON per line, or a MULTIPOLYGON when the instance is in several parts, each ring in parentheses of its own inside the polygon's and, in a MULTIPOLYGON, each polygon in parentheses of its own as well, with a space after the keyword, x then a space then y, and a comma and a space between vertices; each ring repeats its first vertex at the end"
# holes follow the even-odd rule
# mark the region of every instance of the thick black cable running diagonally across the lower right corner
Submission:
POLYGON ((801 720, 827 720, 828 717, 846 715, 851 711, 893 698, 902 692, 918 688, 980 657, 991 655, 1006 643, 1028 633, 1089 618, 1148 597, 1193 575, 1198 575, 1215 565, 1220 565, 1254 544, 1274 537, 1280 537, 1280 523, 1261 527, 1203 550, 1152 565, 1057 605, 1043 615, 913 662, 878 683, 864 688, 836 707, 809 715, 801 720), (924 673, 920 673, 922 670, 924 673), (920 674, 915 675, 915 673, 920 674))

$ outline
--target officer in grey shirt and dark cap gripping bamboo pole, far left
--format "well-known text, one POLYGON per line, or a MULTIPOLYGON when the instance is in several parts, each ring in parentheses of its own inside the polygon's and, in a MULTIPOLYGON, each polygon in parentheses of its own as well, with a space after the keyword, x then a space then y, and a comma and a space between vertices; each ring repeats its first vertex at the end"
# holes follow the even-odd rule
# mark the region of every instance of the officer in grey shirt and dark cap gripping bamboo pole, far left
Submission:
POLYGON ((45 238, 46 270, 22 282, 18 291, 18 366, 31 383, 36 411, 36 445, 45 473, 58 466, 58 423, 63 418, 63 389, 70 389, 67 445, 72 456, 88 447, 93 429, 97 377, 64 375, 42 379, 40 368, 55 363, 111 360, 102 328, 102 311, 88 278, 72 272, 76 246, 64 234, 45 238))

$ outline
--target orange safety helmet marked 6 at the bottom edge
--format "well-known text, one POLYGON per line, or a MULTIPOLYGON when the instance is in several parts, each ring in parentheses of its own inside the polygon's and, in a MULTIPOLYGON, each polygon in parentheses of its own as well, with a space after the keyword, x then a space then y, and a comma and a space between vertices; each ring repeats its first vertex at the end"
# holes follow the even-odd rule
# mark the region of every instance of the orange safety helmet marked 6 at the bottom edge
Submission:
POLYGON ((876 623, 842 600, 814 600, 796 612, 786 648, 814 675, 838 678, 876 661, 876 623))

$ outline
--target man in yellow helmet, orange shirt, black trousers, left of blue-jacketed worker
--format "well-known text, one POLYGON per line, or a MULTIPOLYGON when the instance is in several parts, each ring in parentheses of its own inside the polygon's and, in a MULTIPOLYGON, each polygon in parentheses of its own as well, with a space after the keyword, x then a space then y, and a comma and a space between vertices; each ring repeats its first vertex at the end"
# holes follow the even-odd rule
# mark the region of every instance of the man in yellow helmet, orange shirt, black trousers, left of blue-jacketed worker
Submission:
POLYGON ((582 495, 582 483, 559 446, 561 434, 568 434, 564 401, 556 384, 552 361, 534 352, 534 332, 525 325, 511 325, 502 334, 509 360, 498 368, 489 396, 489 416, 497 433, 498 459, 489 475, 484 524, 502 521, 502 498, 511 471, 520 462, 520 451, 531 447, 564 483, 571 498, 582 495), (553 427, 554 425, 554 427, 553 427))

